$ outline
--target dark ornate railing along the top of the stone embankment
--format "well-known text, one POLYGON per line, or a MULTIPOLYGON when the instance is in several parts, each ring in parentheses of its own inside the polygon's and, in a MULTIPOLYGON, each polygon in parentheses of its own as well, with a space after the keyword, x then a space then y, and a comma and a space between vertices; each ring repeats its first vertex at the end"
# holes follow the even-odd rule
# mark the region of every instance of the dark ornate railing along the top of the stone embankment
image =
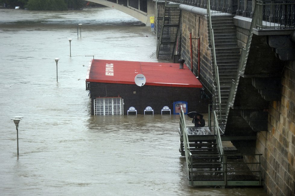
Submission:
MULTIPOLYGON (((266 21, 265 27, 294 28, 294 6, 293 0, 209 0, 210 9, 214 13, 225 12, 243 17, 252 18, 255 4, 261 6, 260 20, 266 21), (279 25, 278 25, 279 24, 279 25)), ((207 9, 207 0, 171 0, 184 5, 191 5, 207 9)))

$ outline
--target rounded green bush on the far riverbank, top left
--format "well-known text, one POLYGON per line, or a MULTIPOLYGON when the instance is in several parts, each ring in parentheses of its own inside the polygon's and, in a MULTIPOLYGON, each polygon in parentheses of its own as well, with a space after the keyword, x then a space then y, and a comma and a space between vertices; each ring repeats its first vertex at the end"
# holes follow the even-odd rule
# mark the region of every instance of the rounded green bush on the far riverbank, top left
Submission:
POLYGON ((68 10, 64 0, 29 0, 26 8, 29 10, 68 10))

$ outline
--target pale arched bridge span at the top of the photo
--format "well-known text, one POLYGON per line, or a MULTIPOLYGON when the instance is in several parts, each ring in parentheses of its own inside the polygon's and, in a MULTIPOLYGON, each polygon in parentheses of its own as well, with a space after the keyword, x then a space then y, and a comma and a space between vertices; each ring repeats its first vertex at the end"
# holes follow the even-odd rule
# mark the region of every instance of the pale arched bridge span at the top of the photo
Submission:
POLYGON ((98 3, 100 5, 107 6, 109 8, 114 8, 116 10, 122 11, 141 22, 146 26, 150 26, 150 16, 154 16, 154 3, 153 1, 129 1, 129 0, 115 0, 105 1, 105 0, 90 0, 89 2, 98 3), (132 5, 132 6, 131 6, 132 5), (143 10, 143 11, 142 11, 143 10))

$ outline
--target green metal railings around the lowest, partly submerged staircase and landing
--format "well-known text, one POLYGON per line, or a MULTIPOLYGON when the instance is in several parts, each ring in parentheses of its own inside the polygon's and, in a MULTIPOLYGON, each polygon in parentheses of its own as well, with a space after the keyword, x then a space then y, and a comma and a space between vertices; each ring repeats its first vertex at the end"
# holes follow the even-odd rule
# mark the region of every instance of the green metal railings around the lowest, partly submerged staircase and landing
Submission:
MULTIPOLYGON (((261 186, 261 156, 262 154, 224 154, 222 141, 220 137, 220 128, 218 126, 216 111, 214 111, 214 134, 217 135, 217 148, 220 154, 192 154, 189 146, 189 138, 186 129, 186 121, 183 109, 181 107, 179 127, 183 135, 183 145, 186 155, 186 166, 188 171, 189 183, 192 186, 261 186), (215 170, 200 170, 204 162, 196 160, 200 157, 219 157, 219 161, 210 162, 215 170), (243 156, 256 156, 254 162, 244 162, 243 156), (258 158, 257 158, 258 156, 258 158), (236 157, 236 158, 233 158, 236 157), (239 158, 240 157, 240 158, 239 158), (250 170, 256 168, 256 170, 250 170), (217 169, 219 168, 219 169, 217 169), (199 170, 198 170, 199 169, 199 170)), ((209 163, 205 163, 209 164, 209 163)))

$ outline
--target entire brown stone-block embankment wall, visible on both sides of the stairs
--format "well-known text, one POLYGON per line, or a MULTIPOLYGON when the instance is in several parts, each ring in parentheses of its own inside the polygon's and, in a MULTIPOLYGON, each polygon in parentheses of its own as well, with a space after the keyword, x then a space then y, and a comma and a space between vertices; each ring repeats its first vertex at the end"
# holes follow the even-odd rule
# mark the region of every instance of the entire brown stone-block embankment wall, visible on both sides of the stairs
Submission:
MULTIPOLYGON (((236 34, 240 49, 246 46, 251 19, 235 17, 236 34)), ((211 53, 208 50, 207 17, 182 11, 181 58, 190 68, 189 33, 192 32, 193 72, 197 75, 197 39, 201 41, 200 80, 211 88, 211 53), (199 24, 200 17, 200 24, 199 24), (198 26, 200 25, 200 28, 198 26)), ((282 76, 281 101, 269 104, 268 131, 258 132, 255 153, 262 154, 262 178, 269 195, 295 195, 295 62, 286 62, 282 76)), ((212 89, 210 89, 213 92, 212 89)), ((248 157, 250 160, 254 157, 248 157)), ((253 159, 252 159, 253 160, 253 159)), ((255 168, 252 168, 255 170, 255 168)))

